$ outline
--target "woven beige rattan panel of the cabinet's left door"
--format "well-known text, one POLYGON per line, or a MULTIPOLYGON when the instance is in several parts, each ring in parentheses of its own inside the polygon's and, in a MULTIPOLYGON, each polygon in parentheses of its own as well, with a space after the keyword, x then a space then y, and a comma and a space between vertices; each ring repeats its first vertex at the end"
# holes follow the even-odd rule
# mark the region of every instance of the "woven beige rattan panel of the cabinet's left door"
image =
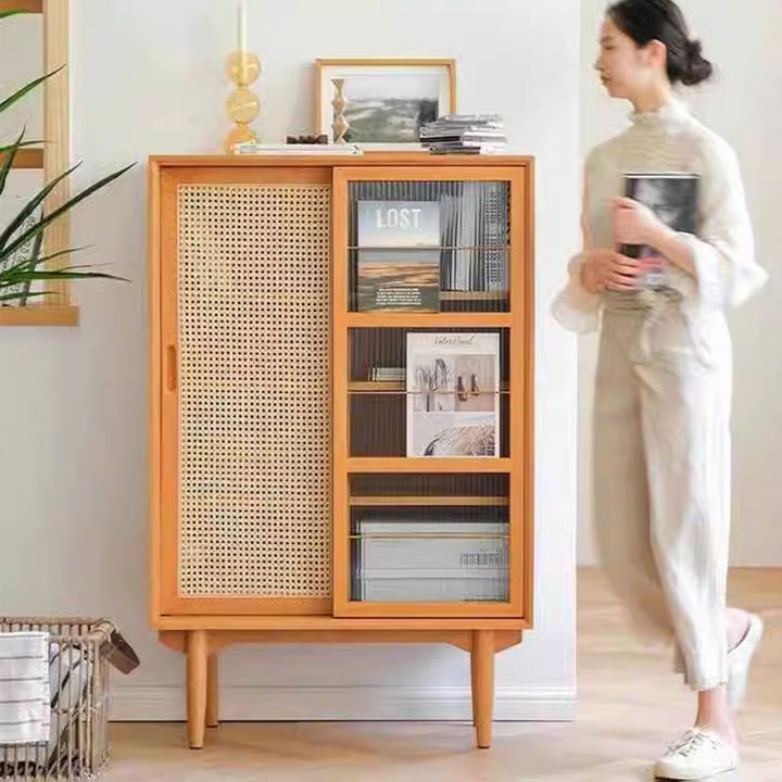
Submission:
POLYGON ((330 593, 330 190, 182 185, 179 593, 330 593))

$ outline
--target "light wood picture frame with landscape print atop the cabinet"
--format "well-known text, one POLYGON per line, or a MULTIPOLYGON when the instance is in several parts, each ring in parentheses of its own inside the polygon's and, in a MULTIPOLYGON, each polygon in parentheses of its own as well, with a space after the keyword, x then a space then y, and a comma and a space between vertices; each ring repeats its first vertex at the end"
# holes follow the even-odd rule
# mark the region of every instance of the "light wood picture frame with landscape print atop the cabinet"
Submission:
POLYGON ((315 133, 335 142, 331 101, 342 79, 344 141, 366 149, 420 149, 418 128, 456 111, 453 58, 318 58, 315 133))

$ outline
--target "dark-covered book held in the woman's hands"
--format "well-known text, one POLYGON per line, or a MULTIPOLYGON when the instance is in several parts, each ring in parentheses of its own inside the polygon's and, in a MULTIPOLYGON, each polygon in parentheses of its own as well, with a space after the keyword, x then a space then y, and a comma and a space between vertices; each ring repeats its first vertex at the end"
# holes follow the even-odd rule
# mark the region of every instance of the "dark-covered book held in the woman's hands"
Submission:
MULTIPOLYGON (((669 228, 686 234, 698 229, 698 181, 696 174, 664 173, 625 175, 625 194, 648 206, 669 228)), ((632 258, 648 258, 641 275, 644 288, 665 287, 665 258, 645 244, 622 244, 620 252, 632 258)))

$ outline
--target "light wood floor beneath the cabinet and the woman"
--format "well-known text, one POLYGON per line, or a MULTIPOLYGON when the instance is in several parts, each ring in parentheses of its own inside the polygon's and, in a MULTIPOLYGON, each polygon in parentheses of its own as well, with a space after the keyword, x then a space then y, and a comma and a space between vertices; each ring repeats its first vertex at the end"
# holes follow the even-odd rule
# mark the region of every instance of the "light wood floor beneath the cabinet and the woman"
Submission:
MULTIPOLYGON (((782 781, 782 570, 735 570, 731 604, 759 611, 766 636, 739 717, 742 767, 720 782, 782 781)), ((579 573, 579 708, 568 723, 494 728, 472 748, 452 723, 226 723, 199 752, 182 724, 114 724, 105 782, 625 782, 651 780, 651 761, 692 721, 693 695, 667 652, 630 634, 602 577, 579 573)))

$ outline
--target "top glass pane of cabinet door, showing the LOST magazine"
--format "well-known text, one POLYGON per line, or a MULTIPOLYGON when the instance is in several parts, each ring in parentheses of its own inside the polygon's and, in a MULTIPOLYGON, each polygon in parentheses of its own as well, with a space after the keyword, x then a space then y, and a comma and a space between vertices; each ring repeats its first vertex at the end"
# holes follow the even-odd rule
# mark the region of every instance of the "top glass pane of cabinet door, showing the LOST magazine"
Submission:
POLYGON ((507 181, 352 181, 351 312, 507 312, 507 181))

